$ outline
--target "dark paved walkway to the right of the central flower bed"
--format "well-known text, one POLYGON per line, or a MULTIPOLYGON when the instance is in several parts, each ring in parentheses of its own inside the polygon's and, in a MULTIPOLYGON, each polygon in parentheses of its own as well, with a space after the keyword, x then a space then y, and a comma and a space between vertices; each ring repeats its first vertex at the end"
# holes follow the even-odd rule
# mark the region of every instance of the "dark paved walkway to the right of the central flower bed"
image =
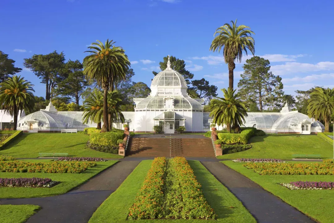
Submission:
POLYGON ((202 162, 259 222, 314 223, 306 215, 220 162, 202 162))

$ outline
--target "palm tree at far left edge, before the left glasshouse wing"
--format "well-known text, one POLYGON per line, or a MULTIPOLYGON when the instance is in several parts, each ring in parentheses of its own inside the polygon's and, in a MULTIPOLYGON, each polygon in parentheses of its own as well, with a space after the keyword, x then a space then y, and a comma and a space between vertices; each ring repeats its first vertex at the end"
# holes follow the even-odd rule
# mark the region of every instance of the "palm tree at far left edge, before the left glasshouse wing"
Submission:
POLYGON ((16 130, 19 110, 32 112, 34 108, 33 86, 31 82, 16 75, 0 84, 0 104, 9 115, 14 117, 14 130, 16 130))

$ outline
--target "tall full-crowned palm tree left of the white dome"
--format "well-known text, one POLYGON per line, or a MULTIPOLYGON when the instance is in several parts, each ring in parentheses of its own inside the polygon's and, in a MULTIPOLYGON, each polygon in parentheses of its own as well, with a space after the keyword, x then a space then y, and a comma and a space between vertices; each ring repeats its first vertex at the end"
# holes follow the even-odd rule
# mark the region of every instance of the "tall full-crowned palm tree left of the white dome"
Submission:
POLYGON ((97 85, 104 90, 103 96, 103 127, 101 132, 109 131, 108 124, 108 90, 114 90, 115 81, 125 78, 125 72, 130 66, 127 55, 122 47, 113 46, 113 40, 93 42, 85 52, 92 54, 83 59, 83 73, 88 80, 96 80, 97 85))

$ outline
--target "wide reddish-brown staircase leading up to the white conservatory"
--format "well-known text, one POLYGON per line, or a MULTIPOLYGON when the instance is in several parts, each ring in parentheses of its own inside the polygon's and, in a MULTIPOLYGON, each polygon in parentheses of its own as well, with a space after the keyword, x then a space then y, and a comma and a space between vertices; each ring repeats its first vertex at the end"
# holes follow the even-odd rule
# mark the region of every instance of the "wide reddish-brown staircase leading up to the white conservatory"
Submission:
POLYGON ((210 138, 130 138, 126 151, 126 156, 169 155, 215 157, 210 138))

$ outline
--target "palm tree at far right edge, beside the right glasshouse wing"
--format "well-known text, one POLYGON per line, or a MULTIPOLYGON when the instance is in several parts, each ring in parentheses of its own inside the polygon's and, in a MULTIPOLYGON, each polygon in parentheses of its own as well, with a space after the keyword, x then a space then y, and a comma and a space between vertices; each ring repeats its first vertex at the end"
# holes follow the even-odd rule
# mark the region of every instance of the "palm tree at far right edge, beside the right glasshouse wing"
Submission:
POLYGON ((307 106, 309 117, 325 121, 325 132, 329 132, 329 122, 334 112, 334 105, 331 98, 334 97, 334 88, 316 88, 311 93, 309 105, 307 106))

